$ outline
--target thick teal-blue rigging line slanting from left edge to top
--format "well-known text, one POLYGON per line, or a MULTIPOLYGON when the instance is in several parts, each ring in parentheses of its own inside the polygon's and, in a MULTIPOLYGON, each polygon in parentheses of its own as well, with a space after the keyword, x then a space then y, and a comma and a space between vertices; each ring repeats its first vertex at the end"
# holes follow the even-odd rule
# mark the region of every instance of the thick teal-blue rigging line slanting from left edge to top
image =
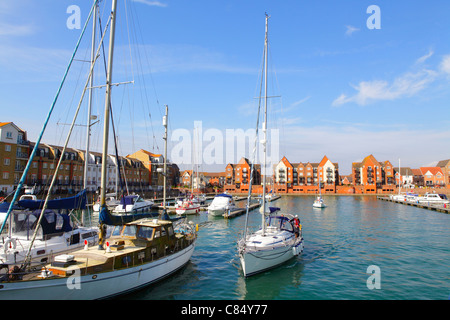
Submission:
POLYGON ((8 220, 9 215, 11 214, 12 207, 14 206, 14 203, 17 201, 17 198, 18 198, 18 196, 19 196, 20 190, 22 189, 22 186, 23 186, 23 184, 25 183, 25 178, 26 178, 26 176, 27 176, 28 171, 30 170, 31 163, 33 162, 34 156, 36 155, 36 151, 37 151, 37 149, 38 149, 39 143, 40 143, 40 141, 41 141, 41 139, 42 139, 42 136, 44 135, 45 129, 47 128, 48 121, 50 120, 50 116, 51 116, 51 114, 52 114, 52 112, 53 112, 53 109, 54 109, 54 107, 55 107, 56 101, 58 100, 59 94, 60 94, 61 89, 62 89, 62 87, 63 87, 63 84, 64 84, 64 82, 65 82, 65 80, 66 80, 67 74, 69 73, 69 69, 70 69, 70 67, 72 66, 73 59, 75 58, 75 54, 76 54, 77 51, 78 51, 78 47, 79 47, 79 45, 80 45, 81 39, 83 38, 84 32, 86 31, 88 22, 89 22, 89 20, 91 19, 91 15, 92 15, 92 12, 93 12, 94 7, 95 7, 96 4, 97 4, 97 0, 94 1, 94 4, 93 4, 92 7, 91 7, 91 10, 90 10, 90 12, 89 12, 88 18, 87 18, 87 20, 86 20, 86 22, 85 22, 85 24, 84 24, 83 30, 81 31, 80 37, 78 38, 77 44, 76 44, 75 49, 74 49, 74 51, 73 51, 73 53, 72 53, 72 56, 71 56, 71 58, 70 58, 69 64, 68 64, 68 66, 67 66, 67 68, 66 68, 66 71, 64 72, 64 76, 63 76, 63 78, 62 78, 62 80, 61 80, 61 83, 60 83, 60 85, 59 85, 59 88, 58 88, 58 90, 56 91, 55 98, 53 99, 52 105, 51 105, 50 110, 49 110, 49 112, 48 112, 48 114, 47 114, 47 118, 46 118, 46 120, 45 120, 45 122, 44 122, 44 125, 43 125, 43 127, 42 127, 42 130, 41 130, 41 132, 40 132, 40 134, 39 134, 39 137, 38 137, 38 139, 37 139, 37 141, 36 141, 36 144, 35 144, 35 146, 34 146, 34 148, 33 148, 33 151, 31 152, 30 158, 28 159, 27 165, 25 166, 25 169, 24 169, 24 171, 23 171, 22 177, 20 178, 19 183, 17 184, 16 193, 14 194, 14 197, 13 197, 13 199, 12 199, 12 201, 11 201, 11 204, 9 205, 8 211, 6 212, 5 219, 3 220, 2 226, 1 226, 1 228, 0 228, 0 233, 1 233, 1 232, 3 231, 3 229, 5 228, 5 224, 6 224, 6 221, 8 220))

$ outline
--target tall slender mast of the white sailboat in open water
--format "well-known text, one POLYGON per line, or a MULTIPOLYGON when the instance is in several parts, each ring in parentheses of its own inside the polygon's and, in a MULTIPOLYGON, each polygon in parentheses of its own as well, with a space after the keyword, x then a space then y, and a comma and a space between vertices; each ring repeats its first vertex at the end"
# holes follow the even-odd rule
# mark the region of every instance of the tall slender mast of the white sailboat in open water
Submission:
POLYGON ((268 32, 269 32, 269 15, 266 13, 266 32, 264 39, 264 122, 262 126, 264 138, 261 141, 264 150, 264 175, 263 175, 263 212, 262 212, 262 234, 266 233, 266 147, 267 147, 267 56, 268 56, 268 32))

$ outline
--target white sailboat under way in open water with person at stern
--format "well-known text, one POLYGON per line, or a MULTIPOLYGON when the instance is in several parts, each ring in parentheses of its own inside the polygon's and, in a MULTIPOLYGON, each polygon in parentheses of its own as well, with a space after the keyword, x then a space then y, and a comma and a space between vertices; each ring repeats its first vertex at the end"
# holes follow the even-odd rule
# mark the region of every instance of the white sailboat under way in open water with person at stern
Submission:
MULTIPOLYGON (((245 277, 276 267, 303 251, 302 228, 298 216, 280 213, 280 208, 268 207, 266 203, 266 143, 267 143, 267 60, 268 60, 268 20, 266 14, 264 41, 265 110, 261 141, 264 149, 263 205, 261 207, 261 229, 247 234, 247 221, 251 197, 251 182, 247 200, 244 236, 238 241, 238 253, 245 277)), ((258 126, 257 126, 258 127, 258 126)), ((255 148, 256 149, 256 148, 255 148)), ((253 170, 253 165, 252 165, 253 170)), ((252 172, 253 173, 253 172, 252 172)))

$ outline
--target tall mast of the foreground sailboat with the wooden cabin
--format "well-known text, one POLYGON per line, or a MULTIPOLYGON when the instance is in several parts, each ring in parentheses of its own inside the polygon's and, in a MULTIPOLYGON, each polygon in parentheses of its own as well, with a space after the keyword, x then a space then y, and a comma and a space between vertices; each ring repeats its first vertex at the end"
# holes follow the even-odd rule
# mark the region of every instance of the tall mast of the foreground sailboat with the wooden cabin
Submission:
MULTIPOLYGON (((116 8, 117 0, 112 0, 111 9, 111 30, 109 34, 109 55, 108 70, 106 74, 106 97, 105 97, 105 118, 103 124, 103 155, 102 155, 102 175, 100 187, 100 211, 108 210, 106 207, 106 164, 108 161, 108 137, 109 137, 109 106, 111 104, 111 83, 112 83, 112 65, 114 54, 114 37, 116 31, 116 8)), ((100 226, 99 249, 103 248, 104 228, 100 226)))

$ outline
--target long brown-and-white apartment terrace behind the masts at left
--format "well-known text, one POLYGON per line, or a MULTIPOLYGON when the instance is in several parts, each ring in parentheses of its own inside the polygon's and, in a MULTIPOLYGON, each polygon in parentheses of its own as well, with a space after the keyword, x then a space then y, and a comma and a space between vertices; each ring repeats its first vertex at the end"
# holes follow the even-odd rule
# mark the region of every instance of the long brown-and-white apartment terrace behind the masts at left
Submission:
MULTIPOLYGON (((0 122, 0 192, 5 196, 17 187, 28 163, 34 142, 27 140, 26 131, 12 122, 0 122)), ((33 187, 35 192, 48 190, 55 176, 53 193, 77 193, 83 188, 98 191, 101 184, 102 154, 90 151, 85 170, 86 152, 73 148, 41 143, 36 149, 30 164, 25 184, 33 187), (61 160, 61 161, 60 161, 61 160), (60 167, 56 172, 58 163, 60 167)), ((126 157, 108 155, 107 157, 107 192, 157 191, 162 189, 162 170, 164 157, 139 150, 126 157), (120 168, 120 170, 118 170, 120 168)), ((179 170, 176 164, 169 163, 168 186, 178 185, 179 170)))

